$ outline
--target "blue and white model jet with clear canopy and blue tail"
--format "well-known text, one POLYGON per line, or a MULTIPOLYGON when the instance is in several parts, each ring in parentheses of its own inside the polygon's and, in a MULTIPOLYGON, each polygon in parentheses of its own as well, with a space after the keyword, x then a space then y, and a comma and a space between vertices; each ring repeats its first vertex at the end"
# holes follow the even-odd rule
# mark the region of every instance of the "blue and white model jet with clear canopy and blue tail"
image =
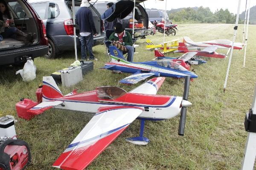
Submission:
POLYGON ((198 76, 177 62, 172 61, 146 61, 146 62, 128 62, 115 46, 109 46, 111 62, 105 64, 103 68, 112 70, 115 73, 132 73, 131 76, 122 79, 124 84, 135 84, 148 77, 175 77, 184 78, 198 76))

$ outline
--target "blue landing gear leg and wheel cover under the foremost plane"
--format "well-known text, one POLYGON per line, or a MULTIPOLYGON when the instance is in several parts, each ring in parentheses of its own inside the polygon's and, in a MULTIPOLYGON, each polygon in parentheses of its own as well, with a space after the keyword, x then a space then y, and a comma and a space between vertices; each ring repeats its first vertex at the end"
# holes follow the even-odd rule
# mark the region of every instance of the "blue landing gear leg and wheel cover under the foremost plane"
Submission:
POLYGON ((127 138, 125 140, 132 144, 147 145, 150 141, 148 138, 143 136, 144 126, 145 126, 145 120, 141 120, 140 121, 140 136, 133 137, 133 138, 127 138))

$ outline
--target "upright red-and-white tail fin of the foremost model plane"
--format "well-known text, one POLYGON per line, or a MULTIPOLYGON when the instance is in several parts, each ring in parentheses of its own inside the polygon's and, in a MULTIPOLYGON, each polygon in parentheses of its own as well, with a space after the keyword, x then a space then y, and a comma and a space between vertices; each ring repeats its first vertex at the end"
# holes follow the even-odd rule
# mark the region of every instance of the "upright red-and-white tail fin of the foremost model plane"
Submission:
POLYGON ((43 77, 43 102, 63 97, 56 82, 51 76, 43 77))

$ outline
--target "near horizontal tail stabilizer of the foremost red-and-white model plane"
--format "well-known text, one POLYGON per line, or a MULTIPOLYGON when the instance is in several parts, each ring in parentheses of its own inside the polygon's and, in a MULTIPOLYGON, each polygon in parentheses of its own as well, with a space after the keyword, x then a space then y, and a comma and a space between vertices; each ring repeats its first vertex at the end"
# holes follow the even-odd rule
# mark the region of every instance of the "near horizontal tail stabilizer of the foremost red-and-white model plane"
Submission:
POLYGON ((50 101, 49 100, 46 102, 41 102, 39 105, 36 105, 33 108, 29 109, 28 112, 38 115, 54 106, 60 105, 61 103, 63 103, 63 101, 57 101, 57 100, 50 101))

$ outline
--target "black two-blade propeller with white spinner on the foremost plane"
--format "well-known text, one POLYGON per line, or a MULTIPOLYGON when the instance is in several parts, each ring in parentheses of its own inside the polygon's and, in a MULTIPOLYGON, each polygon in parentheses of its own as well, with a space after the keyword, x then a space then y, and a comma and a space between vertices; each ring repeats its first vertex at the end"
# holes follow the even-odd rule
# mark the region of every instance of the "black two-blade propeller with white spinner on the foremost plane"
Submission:
POLYGON ((185 123, 186 123, 186 111, 187 107, 191 105, 191 103, 188 103, 188 97, 189 97, 189 80, 190 76, 185 77, 185 82, 184 82, 184 93, 183 93, 183 100, 182 100, 182 107, 180 111, 180 125, 179 125, 179 132, 178 134, 180 136, 184 135, 184 130, 185 130, 185 123))

